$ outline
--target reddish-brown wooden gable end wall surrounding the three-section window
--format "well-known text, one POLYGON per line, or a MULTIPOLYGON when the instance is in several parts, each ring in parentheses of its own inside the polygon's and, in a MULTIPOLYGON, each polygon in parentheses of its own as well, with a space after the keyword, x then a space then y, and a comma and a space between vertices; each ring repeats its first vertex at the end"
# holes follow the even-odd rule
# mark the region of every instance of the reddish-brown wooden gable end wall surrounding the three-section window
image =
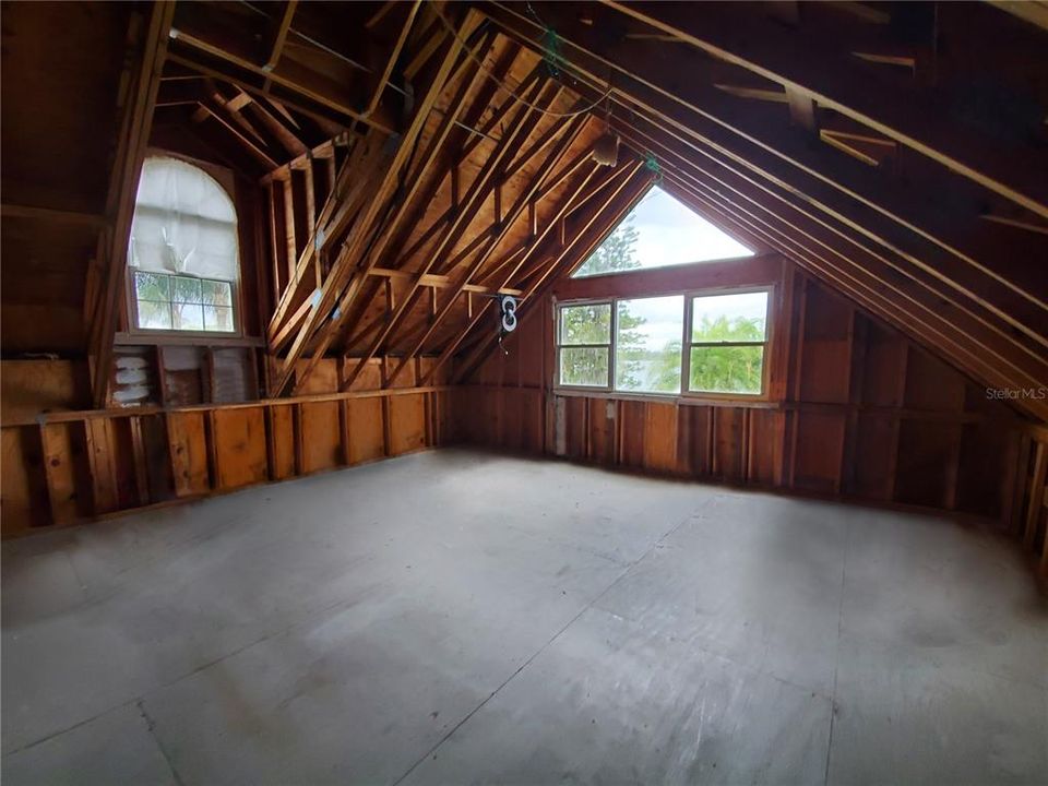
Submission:
POLYGON ((553 295, 643 297, 713 285, 714 274, 717 287, 774 287, 765 400, 550 391, 547 298, 505 341, 509 354, 492 350, 458 394, 456 438, 517 450, 510 419, 534 396, 543 450, 577 461, 992 517, 1022 507, 1015 489, 1032 480, 1014 466, 1015 412, 787 260, 562 279, 553 295))

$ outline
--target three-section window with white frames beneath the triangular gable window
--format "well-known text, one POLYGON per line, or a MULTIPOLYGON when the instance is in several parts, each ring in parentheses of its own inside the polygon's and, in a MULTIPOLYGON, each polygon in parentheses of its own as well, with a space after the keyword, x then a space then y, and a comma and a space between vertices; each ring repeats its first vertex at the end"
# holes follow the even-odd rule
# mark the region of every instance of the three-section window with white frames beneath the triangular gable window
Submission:
POLYGON ((769 295, 762 288, 560 305, 558 386, 760 396, 769 295))

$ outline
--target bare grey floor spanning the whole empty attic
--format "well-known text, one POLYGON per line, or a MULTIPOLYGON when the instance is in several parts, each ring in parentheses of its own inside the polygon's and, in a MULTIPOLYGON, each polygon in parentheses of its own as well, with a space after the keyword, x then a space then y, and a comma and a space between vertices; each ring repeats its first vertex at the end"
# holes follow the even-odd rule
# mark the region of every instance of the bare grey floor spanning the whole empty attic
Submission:
POLYGON ((4 786, 1048 783, 944 519, 442 451, 2 553, 4 786))

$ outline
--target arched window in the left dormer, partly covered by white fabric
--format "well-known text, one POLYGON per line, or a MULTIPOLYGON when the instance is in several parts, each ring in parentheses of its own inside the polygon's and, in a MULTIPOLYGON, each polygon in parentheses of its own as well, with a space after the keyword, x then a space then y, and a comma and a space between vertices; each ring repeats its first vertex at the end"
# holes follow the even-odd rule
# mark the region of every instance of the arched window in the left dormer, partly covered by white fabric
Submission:
POLYGON ((145 160, 128 265, 136 329, 237 332, 237 212, 207 172, 177 158, 145 160))

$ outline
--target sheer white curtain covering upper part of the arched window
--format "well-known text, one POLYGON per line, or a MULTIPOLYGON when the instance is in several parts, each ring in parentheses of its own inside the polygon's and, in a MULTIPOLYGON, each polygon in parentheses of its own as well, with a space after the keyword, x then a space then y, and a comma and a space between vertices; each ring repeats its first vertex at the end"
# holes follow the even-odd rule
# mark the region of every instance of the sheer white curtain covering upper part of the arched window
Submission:
POLYGON ((129 263, 154 273, 237 281, 237 213, 207 172, 177 158, 142 167, 129 263))

